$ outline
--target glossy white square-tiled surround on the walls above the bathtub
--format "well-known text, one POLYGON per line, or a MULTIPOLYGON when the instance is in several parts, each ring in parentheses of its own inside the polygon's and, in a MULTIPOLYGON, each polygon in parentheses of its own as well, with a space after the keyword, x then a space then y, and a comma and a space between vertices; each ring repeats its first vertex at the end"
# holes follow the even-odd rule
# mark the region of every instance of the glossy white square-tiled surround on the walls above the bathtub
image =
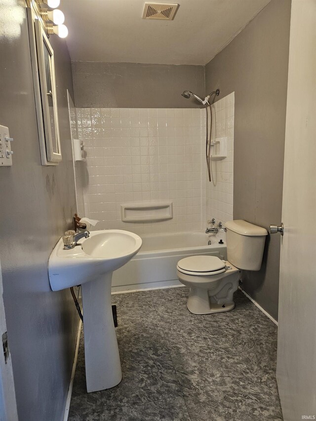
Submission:
MULTIPOLYGON (((223 101, 216 106, 216 137, 226 133, 226 98, 216 103, 223 101)), ((78 212, 99 220, 98 229, 179 232, 201 230, 213 216, 232 219, 233 153, 231 166, 212 163, 216 186, 206 182, 204 109, 77 108, 72 126, 86 153, 85 162, 75 163, 78 212), (173 218, 121 221, 121 203, 153 201, 172 201, 173 218)))

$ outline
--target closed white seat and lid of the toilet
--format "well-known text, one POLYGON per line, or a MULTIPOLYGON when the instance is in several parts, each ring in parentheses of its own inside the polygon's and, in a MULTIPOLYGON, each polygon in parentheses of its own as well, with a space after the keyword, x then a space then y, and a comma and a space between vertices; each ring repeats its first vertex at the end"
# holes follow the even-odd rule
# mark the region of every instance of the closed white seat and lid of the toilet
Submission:
POLYGON ((226 262, 216 256, 190 256, 179 260, 179 272, 195 276, 209 276, 226 271, 226 262))

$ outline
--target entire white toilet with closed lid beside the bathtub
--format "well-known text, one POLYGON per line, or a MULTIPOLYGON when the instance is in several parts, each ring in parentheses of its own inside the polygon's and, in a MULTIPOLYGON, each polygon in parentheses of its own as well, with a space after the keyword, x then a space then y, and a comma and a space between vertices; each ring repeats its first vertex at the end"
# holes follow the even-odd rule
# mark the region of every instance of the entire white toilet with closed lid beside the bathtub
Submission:
POLYGON ((249 222, 229 221, 226 226, 228 261, 216 256, 191 256, 179 260, 179 281, 190 288, 187 307, 194 314, 229 311, 241 269, 260 270, 268 231, 249 222))

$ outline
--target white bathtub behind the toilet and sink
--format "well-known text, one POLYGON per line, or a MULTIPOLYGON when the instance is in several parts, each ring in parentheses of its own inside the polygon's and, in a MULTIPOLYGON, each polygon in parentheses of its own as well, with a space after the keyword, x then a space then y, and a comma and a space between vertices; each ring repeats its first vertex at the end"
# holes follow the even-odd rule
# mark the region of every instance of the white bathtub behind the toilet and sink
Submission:
POLYGON ((146 234, 138 254, 125 266, 115 270, 112 293, 181 286, 177 278, 180 259, 195 254, 227 259, 225 233, 178 232, 146 234), (224 244, 219 244, 223 239, 224 244), (211 240, 211 245, 208 241, 211 240))

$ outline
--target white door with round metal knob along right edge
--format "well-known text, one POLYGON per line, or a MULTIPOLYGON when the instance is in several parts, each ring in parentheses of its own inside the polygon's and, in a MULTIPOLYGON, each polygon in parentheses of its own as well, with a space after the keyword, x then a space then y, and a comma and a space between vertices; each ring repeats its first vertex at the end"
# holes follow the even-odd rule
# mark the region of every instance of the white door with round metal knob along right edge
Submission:
POLYGON ((315 420, 316 0, 292 0, 282 222, 277 383, 284 421, 315 420))

